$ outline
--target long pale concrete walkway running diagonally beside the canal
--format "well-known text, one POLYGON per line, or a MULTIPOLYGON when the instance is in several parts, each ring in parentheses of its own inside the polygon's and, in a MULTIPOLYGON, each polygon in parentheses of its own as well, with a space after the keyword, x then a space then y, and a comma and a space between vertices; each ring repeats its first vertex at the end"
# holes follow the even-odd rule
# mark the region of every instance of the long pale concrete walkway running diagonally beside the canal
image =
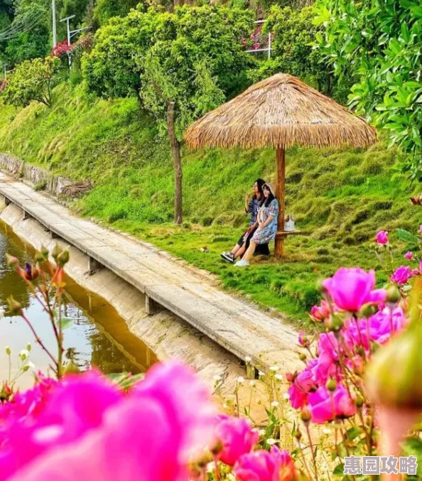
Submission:
MULTIPOLYGON (((205 276, 178 265, 142 242, 75 217, 63 205, 4 173, 0 194, 58 238, 90 256, 87 270, 105 266, 146 294, 151 313, 161 306, 175 313, 229 352, 268 372, 298 367, 297 333, 246 302, 212 286, 205 276)), ((216 259, 220 262, 220 259, 216 259)))

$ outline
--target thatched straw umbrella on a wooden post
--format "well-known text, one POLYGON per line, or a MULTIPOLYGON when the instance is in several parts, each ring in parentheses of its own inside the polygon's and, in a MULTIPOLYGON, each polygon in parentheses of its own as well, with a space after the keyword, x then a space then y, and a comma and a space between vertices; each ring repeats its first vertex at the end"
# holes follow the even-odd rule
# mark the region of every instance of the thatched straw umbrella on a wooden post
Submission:
POLYGON ((364 119, 320 94, 292 75, 278 73, 249 87, 226 104, 195 121, 186 131, 192 148, 276 148, 276 188, 279 202, 274 255, 283 256, 284 154, 288 147, 365 147, 377 134, 364 119))

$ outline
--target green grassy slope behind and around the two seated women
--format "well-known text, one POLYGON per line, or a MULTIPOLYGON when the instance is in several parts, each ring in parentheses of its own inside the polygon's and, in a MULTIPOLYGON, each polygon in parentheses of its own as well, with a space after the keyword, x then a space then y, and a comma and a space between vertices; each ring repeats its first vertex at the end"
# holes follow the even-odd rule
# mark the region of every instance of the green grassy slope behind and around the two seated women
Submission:
MULTIPOLYGON (((415 229, 420 211, 406 183, 391 181, 396 153, 294 149, 287 155, 287 213, 305 235, 288 239, 287 259, 236 269, 220 261, 242 232, 244 192, 257 177, 274 179, 274 152, 186 151, 185 224, 171 224, 173 173, 165 141, 134 99, 90 99, 61 85, 48 110, 0 107, 0 151, 95 188, 75 204, 220 276, 264 306, 305 319, 318 300, 315 279, 338 266, 377 266, 372 239, 379 228, 415 229), (212 224, 212 225, 210 225, 212 224), (210 252, 200 252, 207 245, 210 252)), ((382 281, 383 279, 380 279, 382 281)))

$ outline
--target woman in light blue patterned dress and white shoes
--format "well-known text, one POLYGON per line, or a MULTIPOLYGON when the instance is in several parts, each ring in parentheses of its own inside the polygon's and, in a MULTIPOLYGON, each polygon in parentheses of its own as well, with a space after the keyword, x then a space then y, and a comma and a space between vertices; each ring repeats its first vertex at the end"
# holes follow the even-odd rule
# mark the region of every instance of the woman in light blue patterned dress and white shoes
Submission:
POLYGON ((278 219, 278 200, 274 195, 269 184, 262 186, 264 193, 264 202, 262 203, 258 212, 258 228, 251 238, 249 248, 245 252, 241 261, 235 264, 238 267, 249 266, 251 256, 254 255, 257 245, 268 244, 273 241, 277 233, 277 219, 278 219))

